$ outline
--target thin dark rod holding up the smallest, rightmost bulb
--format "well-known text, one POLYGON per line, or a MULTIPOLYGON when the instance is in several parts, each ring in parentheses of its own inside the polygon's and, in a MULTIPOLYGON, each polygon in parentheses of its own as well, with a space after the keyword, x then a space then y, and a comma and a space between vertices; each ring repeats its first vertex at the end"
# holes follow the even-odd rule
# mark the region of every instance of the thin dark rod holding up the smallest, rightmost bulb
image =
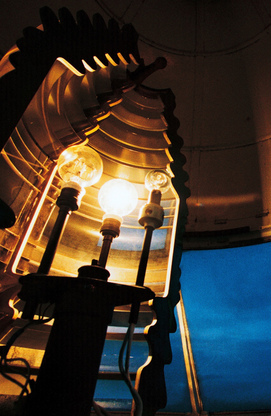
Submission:
MULTIPOLYGON (((140 258, 139 267, 137 271, 136 285, 138 286, 144 285, 145 274, 147 270, 147 263, 149 259, 149 250, 150 250, 151 242, 152 242, 153 230, 154 230, 153 227, 150 227, 150 226, 149 227, 147 226, 145 228, 142 253, 141 253, 141 258, 140 258)), ((140 302, 132 303, 131 311, 129 315, 129 324, 137 324, 139 308, 140 308, 140 302)))

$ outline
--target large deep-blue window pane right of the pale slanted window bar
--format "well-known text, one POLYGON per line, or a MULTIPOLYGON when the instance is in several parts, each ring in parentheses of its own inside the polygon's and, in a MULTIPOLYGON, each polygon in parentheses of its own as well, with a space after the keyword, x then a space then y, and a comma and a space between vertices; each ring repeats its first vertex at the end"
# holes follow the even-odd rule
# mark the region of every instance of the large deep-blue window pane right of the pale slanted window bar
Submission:
POLYGON ((271 243, 183 253, 181 290, 206 411, 271 408, 271 243))

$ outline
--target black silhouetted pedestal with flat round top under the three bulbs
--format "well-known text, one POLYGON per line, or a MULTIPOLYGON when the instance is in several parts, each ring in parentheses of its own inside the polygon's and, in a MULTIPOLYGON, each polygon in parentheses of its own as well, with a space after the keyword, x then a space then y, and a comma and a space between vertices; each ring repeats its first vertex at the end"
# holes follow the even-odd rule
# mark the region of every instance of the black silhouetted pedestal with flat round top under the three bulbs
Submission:
POLYGON ((90 415, 114 307, 154 298, 147 287, 107 282, 108 277, 98 265, 80 267, 78 278, 20 277, 20 299, 55 302, 55 322, 25 415, 90 415))

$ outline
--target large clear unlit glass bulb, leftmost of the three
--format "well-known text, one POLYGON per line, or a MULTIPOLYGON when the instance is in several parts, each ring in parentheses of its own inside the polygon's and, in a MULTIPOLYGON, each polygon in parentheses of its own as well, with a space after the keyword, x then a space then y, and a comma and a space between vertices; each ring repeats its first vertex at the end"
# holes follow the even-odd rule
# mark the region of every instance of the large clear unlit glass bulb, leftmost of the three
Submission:
POLYGON ((64 182, 76 182, 82 188, 91 186, 102 176, 102 159, 88 146, 70 146, 57 161, 57 170, 64 182))

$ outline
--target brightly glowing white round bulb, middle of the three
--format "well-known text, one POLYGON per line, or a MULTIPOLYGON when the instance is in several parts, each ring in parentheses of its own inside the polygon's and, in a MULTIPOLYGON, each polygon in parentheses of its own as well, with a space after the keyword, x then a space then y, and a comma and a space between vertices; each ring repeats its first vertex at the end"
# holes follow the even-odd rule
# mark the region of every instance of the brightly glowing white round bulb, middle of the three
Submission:
POLYGON ((137 206, 137 190, 132 183, 124 179, 111 179, 99 190, 98 201, 106 214, 122 217, 131 213, 137 206))

